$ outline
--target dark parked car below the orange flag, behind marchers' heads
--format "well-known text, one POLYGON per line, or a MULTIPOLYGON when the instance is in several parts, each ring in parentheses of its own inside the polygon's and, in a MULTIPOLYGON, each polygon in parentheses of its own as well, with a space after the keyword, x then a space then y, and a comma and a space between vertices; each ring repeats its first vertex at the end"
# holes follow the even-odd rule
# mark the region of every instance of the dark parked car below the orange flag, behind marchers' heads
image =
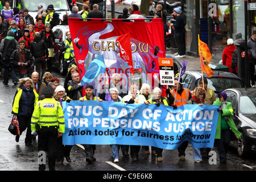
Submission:
MULTIPOLYGON (((242 79, 233 73, 213 71, 214 75, 208 78, 208 88, 213 89, 215 94, 222 92, 229 88, 245 88, 242 79)), ((208 77, 203 73, 205 77, 208 77)), ((182 76, 184 82, 183 87, 193 91, 200 85, 200 78, 202 77, 201 71, 186 71, 182 76)))

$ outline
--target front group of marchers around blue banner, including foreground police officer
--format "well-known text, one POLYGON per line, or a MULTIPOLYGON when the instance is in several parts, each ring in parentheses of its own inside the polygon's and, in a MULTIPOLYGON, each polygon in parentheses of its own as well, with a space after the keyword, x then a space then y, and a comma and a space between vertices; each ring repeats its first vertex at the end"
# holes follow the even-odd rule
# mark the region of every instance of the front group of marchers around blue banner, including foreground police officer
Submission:
MULTIPOLYGON (((105 86, 104 92, 98 94, 97 97, 92 85, 86 85, 85 95, 82 95, 82 85, 76 65, 69 68, 64 86, 60 85, 59 78, 52 77, 50 72, 44 73, 43 81, 40 81, 38 72, 33 72, 31 78, 21 78, 14 96, 13 113, 18 117, 20 134, 27 129, 25 144, 30 146, 32 137, 38 135, 38 150, 48 152, 50 170, 55 169, 56 160, 59 164, 63 164, 64 158, 67 162, 72 162, 70 158, 72 146, 63 145, 62 143, 62 134, 65 128, 64 114, 61 107, 63 101, 80 100, 82 102, 93 100, 102 102, 105 100, 127 104, 144 103, 158 106, 163 104, 172 106, 174 109, 185 104, 220 105, 215 139, 220 154, 220 162, 226 162, 226 152, 232 138, 232 131, 236 138, 239 138, 241 133, 236 129, 236 125, 234 125, 231 118, 233 109, 231 103, 226 102, 226 94, 221 92, 216 98, 214 91, 207 87, 207 78, 201 79, 200 87, 195 88, 192 93, 183 88, 182 79, 179 82, 177 77, 175 77, 174 88, 167 88, 166 93, 162 93, 162 88, 158 87, 151 90, 151 86, 148 84, 143 84, 140 90, 136 84, 133 84, 130 85, 129 90, 126 90, 125 86, 121 85, 120 80, 121 76, 114 73, 112 83, 105 86), (167 97, 164 97, 165 95, 167 97)), ((16 142, 19 142, 19 137, 19 135, 16 135, 16 142)), ((96 160, 94 158, 96 145, 82 145, 85 148, 86 162, 94 162, 96 160)), ((118 163, 119 148, 121 148, 125 158, 129 158, 130 148, 132 161, 138 161, 141 146, 117 144, 110 146, 115 163, 118 163)), ((185 141, 177 148, 180 160, 185 160, 187 146, 188 142, 185 141)), ((142 148, 144 148, 146 155, 150 154, 149 146, 143 146, 142 148)), ((209 151, 210 148, 193 147, 195 162, 200 163, 202 157, 208 156, 209 151)), ((151 152, 152 155, 157 156, 158 162, 162 162, 162 148, 151 147, 151 152)), ((39 165, 39 170, 45 168, 44 164, 39 165)))

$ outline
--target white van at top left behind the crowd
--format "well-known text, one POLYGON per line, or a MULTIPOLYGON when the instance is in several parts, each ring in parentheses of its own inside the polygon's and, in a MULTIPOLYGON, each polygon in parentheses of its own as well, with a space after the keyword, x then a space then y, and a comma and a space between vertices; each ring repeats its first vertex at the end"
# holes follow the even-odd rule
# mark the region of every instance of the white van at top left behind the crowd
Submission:
POLYGON ((66 14, 66 11, 68 14, 71 14, 67 0, 13 0, 13 7, 21 6, 22 10, 28 9, 28 14, 34 20, 36 15, 38 15, 38 5, 42 5, 45 10, 48 5, 53 5, 55 12, 60 14, 60 19, 66 14))

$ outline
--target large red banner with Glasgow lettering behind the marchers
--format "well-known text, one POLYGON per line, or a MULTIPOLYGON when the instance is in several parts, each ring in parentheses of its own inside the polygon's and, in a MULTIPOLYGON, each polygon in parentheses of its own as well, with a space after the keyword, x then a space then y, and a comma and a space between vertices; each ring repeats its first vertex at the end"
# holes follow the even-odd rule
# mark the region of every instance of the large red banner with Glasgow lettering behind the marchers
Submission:
POLYGON ((143 70, 142 82, 154 86, 153 77, 159 75, 158 57, 166 56, 162 19, 152 19, 151 23, 146 23, 144 19, 135 19, 134 22, 113 19, 109 22, 102 19, 81 21, 78 18, 69 18, 68 23, 80 78, 84 76, 90 62, 103 54, 107 79, 94 80, 90 85, 95 88, 100 82, 100 86, 103 87, 110 84, 113 73, 119 73, 122 77, 121 84, 128 88, 130 67, 121 58, 116 40, 118 36, 130 34, 133 67, 143 70), (159 47, 159 52, 155 56, 156 46, 159 47))

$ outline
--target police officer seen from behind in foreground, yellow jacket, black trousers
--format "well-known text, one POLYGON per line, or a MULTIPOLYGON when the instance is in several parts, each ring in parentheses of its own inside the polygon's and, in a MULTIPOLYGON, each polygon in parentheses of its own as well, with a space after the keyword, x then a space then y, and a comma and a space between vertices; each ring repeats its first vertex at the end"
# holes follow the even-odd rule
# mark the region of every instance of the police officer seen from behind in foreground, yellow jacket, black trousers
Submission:
MULTIPOLYGON (((61 137, 65 131, 64 114, 60 102, 53 100, 54 89, 47 86, 43 89, 44 100, 39 101, 31 118, 31 131, 38 135, 39 155, 46 156, 48 151, 48 166, 50 171, 55 170, 55 151, 57 137, 61 137)), ((40 156, 41 159, 41 156, 40 156)), ((46 169, 45 159, 39 159, 39 171, 46 169)))

